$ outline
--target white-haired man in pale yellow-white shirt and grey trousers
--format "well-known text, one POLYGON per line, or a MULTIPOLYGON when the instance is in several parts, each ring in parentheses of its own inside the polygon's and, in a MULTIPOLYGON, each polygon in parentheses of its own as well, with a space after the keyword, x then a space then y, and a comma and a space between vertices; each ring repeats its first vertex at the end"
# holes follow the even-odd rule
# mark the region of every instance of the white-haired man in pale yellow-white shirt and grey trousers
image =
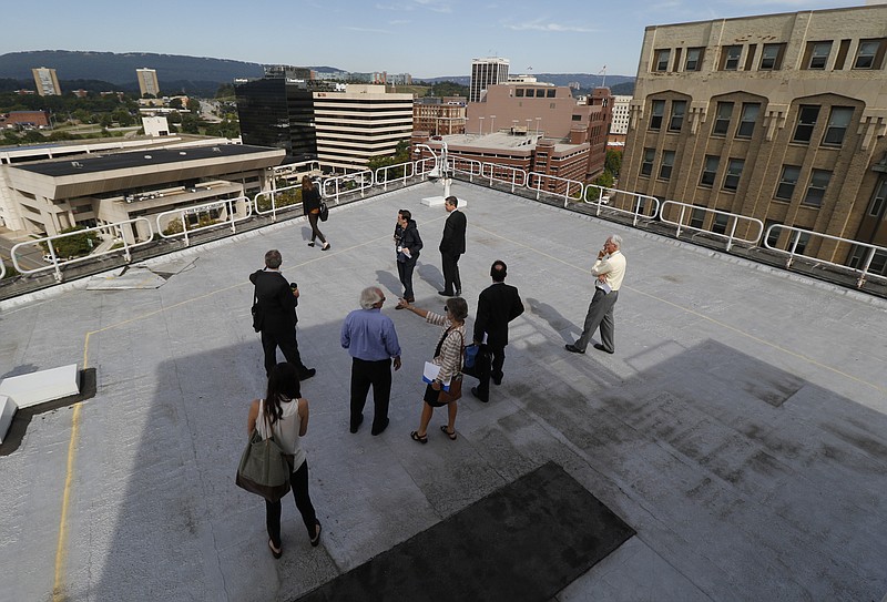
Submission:
POLYGON ((595 277, 594 296, 591 298, 589 313, 585 315, 582 336, 575 343, 564 346, 568 351, 584 354, 591 336, 600 326, 601 343, 595 343, 594 348, 608 354, 615 353, 613 306, 619 298, 622 278, 625 277, 625 256, 622 255, 621 247, 622 236, 613 234, 603 244, 603 248, 598 252, 598 261, 591 268, 591 275, 595 277))

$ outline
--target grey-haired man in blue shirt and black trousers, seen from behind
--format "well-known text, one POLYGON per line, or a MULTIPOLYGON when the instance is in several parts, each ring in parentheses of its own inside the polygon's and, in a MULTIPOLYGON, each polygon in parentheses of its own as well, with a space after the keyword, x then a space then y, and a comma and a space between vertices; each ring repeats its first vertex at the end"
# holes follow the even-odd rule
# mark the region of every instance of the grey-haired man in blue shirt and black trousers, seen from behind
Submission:
POLYGON ((355 309, 341 325, 341 346, 351 356, 351 432, 364 421, 364 406, 373 385, 373 435, 388 427, 388 400, 391 396, 391 358, 400 369, 400 344, 395 323, 381 313, 385 295, 370 286, 360 293, 360 309, 355 309))

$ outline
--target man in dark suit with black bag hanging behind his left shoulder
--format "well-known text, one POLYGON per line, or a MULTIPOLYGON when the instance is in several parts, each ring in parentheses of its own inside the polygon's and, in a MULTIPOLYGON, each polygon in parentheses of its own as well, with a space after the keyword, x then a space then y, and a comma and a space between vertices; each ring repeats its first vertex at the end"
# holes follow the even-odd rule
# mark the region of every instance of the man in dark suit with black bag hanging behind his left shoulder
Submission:
POLYGON ((281 273, 283 258, 276 248, 265 254, 265 269, 249 274, 255 285, 253 326, 262 333, 262 348, 265 351, 265 373, 277 365, 277 347, 286 360, 296 367, 300 380, 306 380, 317 370, 306 368, 298 354, 296 340, 296 306, 298 286, 286 282, 281 273))

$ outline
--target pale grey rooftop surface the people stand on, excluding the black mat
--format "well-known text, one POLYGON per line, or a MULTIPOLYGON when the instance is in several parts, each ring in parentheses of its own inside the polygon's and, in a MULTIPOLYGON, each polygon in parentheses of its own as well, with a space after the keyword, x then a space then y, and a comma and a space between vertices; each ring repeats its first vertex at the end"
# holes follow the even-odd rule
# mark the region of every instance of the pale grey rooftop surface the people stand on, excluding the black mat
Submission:
POLYGON ((409 438, 439 331, 394 310, 404 207, 426 245, 416 304, 442 306, 446 214, 420 204, 437 184, 334 207, 325 253, 299 218, 152 259, 123 289, 80 280, 0 304, 0 376, 77 363, 98 379, 92 399, 35 416, 0 457, 0 599, 295 600, 549 461, 636 531, 561 602, 884 599, 886 302, 507 193, 452 192, 468 201, 471 316, 497 258, 527 307, 490 402, 460 400, 456 441, 437 430, 442 410, 428 445, 409 438), (611 233, 628 258, 616 353, 569 354, 611 233), (299 284, 299 348, 317 368, 304 447, 324 524, 312 548, 285 502, 279 561, 262 501, 234 484, 265 389, 247 275, 269 248, 299 284), (379 437, 368 422, 348 432, 338 341, 370 285, 404 348, 379 437))

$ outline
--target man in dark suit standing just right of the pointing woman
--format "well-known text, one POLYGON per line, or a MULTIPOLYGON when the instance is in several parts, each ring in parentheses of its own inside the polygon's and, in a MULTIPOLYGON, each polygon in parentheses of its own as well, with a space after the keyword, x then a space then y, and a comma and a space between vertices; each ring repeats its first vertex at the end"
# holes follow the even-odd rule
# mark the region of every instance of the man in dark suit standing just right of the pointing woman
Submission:
POLYGON ((482 344, 476 365, 480 382, 471 388, 471 395, 483 402, 490 399, 490 377, 497 385, 502 384, 508 323, 523 314, 523 304, 518 289, 504 283, 507 269, 504 262, 493 262, 490 267, 492 284, 485 288, 478 298, 475 343, 482 344))

